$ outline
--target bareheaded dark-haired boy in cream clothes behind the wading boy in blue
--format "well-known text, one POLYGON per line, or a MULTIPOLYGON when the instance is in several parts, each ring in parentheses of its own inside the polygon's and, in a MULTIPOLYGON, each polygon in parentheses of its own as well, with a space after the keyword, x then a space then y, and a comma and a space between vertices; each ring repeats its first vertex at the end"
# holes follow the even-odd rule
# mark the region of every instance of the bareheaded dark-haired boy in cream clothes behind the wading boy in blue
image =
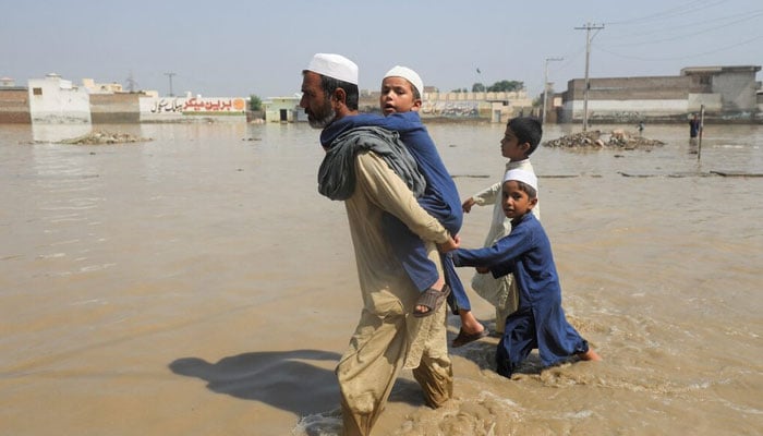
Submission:
MULTIPOLYGON (((532 117, 517 117, 506 123, 504 137, 500 140, 501 156, 509 159, 506 162, 504 172, 522 169, 530 173, 533 171, 533 166, 530 164, 530 155, 535 152, 541 137, 543 135, 543 126, 541 121, 532 117)), ((491 246, 498 240, 509 234, 511 231, 511 220, 504 214, 501 186, 502 180, 480 191, 479 193, 467 198, 461 207, 464 213, 470 213, 472 206, 488 206, 493 205, 493 220, 487 230, 484 246, 491 246)), ((532 214, 541 219, 541 206, 535 204, 532 208, 532 214)), ((508 274, 502 277, 494 278, 487 274, 475 274, 472 278, 472 289, 480 296, 493 304, 496 308, 496 332, 504 334, 504 325, 506 317, 519 307, 519 293, 513 275, 508 274)))

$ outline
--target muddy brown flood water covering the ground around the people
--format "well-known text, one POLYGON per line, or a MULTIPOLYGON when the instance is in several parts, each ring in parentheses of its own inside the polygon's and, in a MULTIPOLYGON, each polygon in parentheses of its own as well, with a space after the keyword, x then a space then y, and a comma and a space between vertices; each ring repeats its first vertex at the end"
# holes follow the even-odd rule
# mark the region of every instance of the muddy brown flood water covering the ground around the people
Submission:
MULTIPOLYGON (((361 299, 343 205, 316 192, 319 132, 97 128, 153 141, 0 125, 0 434, 336 434, 332 371, 361 299)), ((762 174, 763 126, 707 125, 701 159, 688 130, 532 156, 564 306, 603 362, 531 356, 506 379, 485 338, 451 350, 445 408, 403 371, 375 434, 760 434, 763 178, 714 172, 762 174)), ((429 131, 462 198, 500 179, 502 125, 429 131)), ((462 246, 489 219, 472 209, 462 246)))

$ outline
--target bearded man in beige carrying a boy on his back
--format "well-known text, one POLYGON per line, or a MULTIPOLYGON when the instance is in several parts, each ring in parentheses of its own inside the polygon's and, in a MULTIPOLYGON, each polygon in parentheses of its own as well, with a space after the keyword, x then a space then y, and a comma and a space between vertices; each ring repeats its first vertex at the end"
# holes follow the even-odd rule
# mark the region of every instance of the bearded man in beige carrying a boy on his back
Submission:
POLYGON ((358 99, 358 65, 349 59, 317 53, 302 71, 300 107, 311 126, 323 129, 320 144, 326 150, 318 191, 344 203, 363 301, 349 350, 336 370, 342 435, 353 436, 372 433, 403 366, 413 370, 427 405, 440 407, 452 397, 445 307, 426 318, 411 316, 419 292, 393 254, 385 214, 427 241, 435 265, 439 264, 435 243, 444 250, 458 246, 419 205, 414 192, 423 192, 424 180, 398 135, 352 125, 358 99))

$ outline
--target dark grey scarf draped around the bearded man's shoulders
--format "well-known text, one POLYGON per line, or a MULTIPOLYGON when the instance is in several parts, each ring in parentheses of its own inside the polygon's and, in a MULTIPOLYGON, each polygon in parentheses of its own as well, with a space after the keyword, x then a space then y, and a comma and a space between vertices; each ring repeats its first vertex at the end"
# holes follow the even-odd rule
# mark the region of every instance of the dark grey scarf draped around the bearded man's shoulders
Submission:
POLYGON ((318 169, 318 192, 331 199, 349 198, 355 190, 355 156, 365 150, 379 155, 421 196, 426 181, 400 135, 373 126, 354 128, 334 140, 318 169))

